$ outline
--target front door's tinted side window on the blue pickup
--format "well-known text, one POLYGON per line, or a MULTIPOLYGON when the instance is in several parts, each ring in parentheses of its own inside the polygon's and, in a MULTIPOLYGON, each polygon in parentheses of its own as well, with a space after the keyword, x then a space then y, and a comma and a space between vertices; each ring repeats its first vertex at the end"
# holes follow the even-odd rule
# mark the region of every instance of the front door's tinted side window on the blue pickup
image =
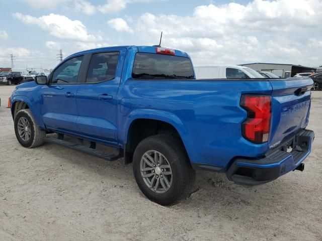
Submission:
POLYGON ((52 75, 52 83, 76 83, 83 56, 67 60, 52 75))

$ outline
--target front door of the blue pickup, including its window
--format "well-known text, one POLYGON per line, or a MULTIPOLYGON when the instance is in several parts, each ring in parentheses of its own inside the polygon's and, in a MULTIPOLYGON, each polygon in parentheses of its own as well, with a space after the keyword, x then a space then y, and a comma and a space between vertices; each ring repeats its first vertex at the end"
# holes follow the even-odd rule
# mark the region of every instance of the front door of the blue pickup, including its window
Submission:
POLYGON ((49 84, 42 88, 43 122, 48 129, 76 132, 77 79, 83 56, 64 61, 49 76, 49 84))

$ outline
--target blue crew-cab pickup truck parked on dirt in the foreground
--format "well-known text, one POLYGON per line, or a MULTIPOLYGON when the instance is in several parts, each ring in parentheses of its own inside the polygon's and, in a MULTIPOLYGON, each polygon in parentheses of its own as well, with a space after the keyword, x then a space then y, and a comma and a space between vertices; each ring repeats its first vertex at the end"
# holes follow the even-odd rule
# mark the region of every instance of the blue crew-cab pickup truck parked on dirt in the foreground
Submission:
POLYGON ((108 47, 75 53, 48 77, 17 86, 11 111, 22 146, 124 158, 145 196, 168 205, 189 194, 196 169, 244 185, 302 171, 314 139, 305 129, 312 85, 306 77, 195 79, 179 50, 108 47))

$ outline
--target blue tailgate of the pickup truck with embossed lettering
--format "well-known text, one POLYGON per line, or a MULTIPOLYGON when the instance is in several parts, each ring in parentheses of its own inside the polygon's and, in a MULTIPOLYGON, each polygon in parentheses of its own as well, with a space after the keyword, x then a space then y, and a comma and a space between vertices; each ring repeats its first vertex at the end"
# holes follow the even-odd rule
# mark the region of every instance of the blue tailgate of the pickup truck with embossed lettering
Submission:
POLYGON ((270 149, 286 141, 308 124, 312 79, 272 79, 272 121, 270 149))

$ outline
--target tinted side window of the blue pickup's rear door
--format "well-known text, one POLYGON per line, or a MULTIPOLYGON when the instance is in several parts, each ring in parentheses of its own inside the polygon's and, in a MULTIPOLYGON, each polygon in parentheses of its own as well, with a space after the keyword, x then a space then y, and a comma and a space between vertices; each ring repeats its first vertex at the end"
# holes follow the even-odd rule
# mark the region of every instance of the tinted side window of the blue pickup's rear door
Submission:
POLYGON ((115 77, 119 52, 93 54, 86 82, 95 83, 115 77))

